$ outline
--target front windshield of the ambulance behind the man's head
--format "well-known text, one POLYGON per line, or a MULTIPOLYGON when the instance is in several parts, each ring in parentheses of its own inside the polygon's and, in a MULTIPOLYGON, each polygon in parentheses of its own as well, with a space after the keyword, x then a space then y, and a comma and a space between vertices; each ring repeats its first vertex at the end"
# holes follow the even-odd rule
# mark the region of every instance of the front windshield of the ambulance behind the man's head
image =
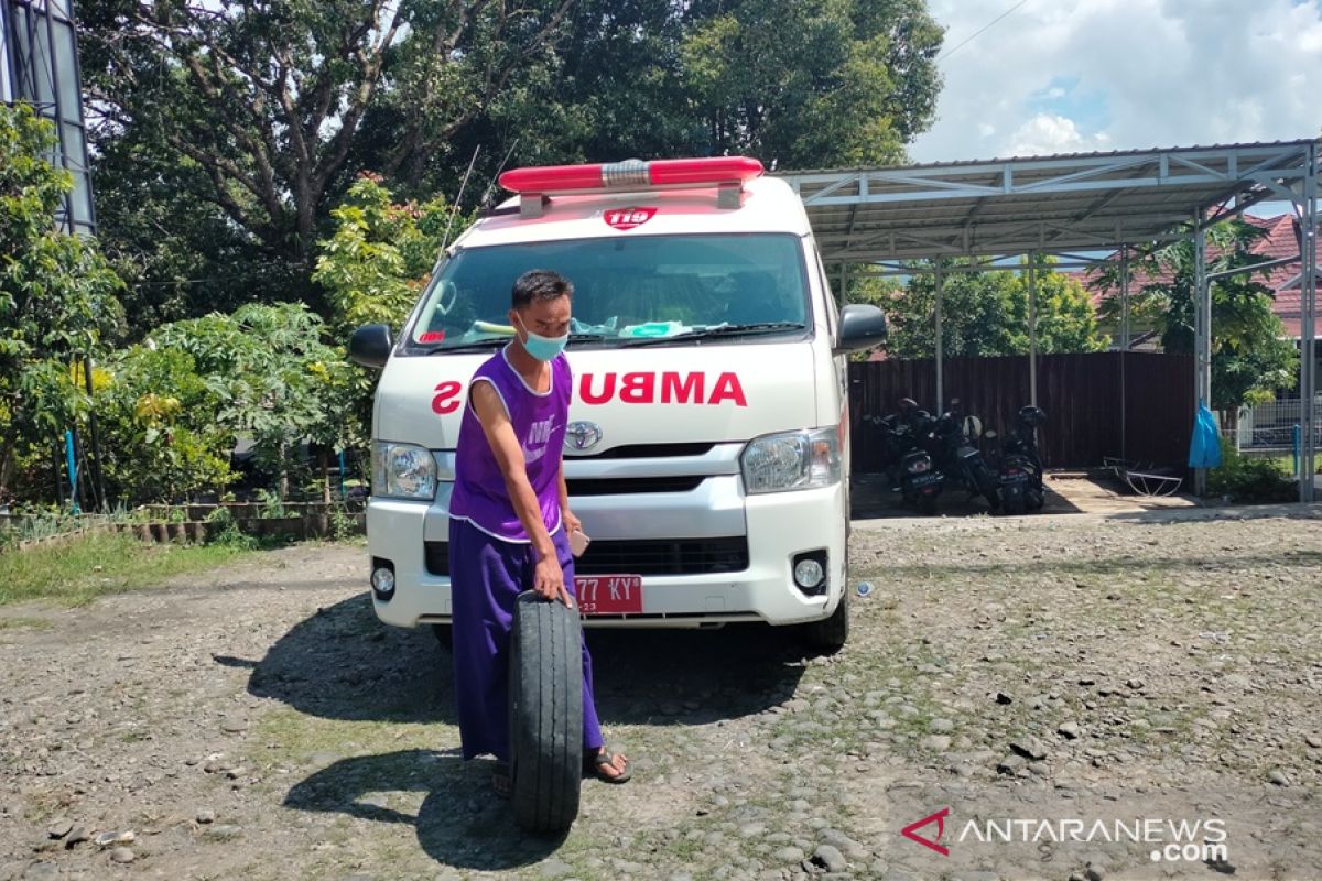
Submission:
POLYGON ((465 248, 432 280, 405 354, 497 346, 513 335, 510 288, 527 269, 574 283, 570 345, 735 341, 739 326, 802 335, 802 244, 788 234, 613 236, 465 248), (705 332, 713 332, 705 334, 705 332))

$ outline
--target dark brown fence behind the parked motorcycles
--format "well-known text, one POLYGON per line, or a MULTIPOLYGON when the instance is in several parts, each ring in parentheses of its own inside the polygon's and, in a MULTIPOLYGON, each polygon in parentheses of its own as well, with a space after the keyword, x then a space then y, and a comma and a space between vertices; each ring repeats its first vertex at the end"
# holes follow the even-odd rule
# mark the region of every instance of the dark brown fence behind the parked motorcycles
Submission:
MULTIPOLYGON (((947 403, 958 398, 964 412, 997 432, 1029 403, 1027 355, 947 358, 944 374, 947 403)), ((931 359, 854 362, 849 378, 853 466, 875 472, 879 449, 865 416, 895 412, 900 398, 935 408, 936 367, 931 359)), ((1038 405, 1047 412, 1039 431, 1047 468, 1091 468, 1104 456, 1183 468, 1194 429, 1194 362, 1134 351, 1042 355, 1038 405)))

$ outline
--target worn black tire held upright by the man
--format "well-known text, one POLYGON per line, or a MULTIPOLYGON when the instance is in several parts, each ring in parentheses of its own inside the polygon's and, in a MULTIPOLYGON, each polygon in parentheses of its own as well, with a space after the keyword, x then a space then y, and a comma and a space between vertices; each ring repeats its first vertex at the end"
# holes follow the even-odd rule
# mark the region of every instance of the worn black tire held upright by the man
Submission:
POLYGON ((510 800, 529 832, 564 832, 583 782, 582 623, 531 592, 514 605, 509 664, 510 800))

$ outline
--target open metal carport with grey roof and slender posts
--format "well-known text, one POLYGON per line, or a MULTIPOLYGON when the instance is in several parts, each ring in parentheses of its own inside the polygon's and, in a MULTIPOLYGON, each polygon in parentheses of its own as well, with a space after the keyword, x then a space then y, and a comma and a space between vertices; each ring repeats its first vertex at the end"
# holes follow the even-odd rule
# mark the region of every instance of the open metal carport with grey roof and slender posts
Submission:
MULTIPOLYGON (((1227 144, 1114 153, 1077 153, 895 168, 779 173, 808 209, 824 263, 839 271, 869 264, 908 273, 904 262, 943 256, 1029 256, 1030 301, 1038 255, 1095 264, 1076 252, 1121 252, 1121 335, 1129 345, 1128 254, 1133 246, 1188 235, 1192 221, 1198 277, 1195 376, 1199 400, 1211 398, 1211 287, 1206 272, 1207 226, 1268 201, 1288 201, 1306 230, 1301 243, 1300 391, 1305 424, 1314 412, 1317 333, 1317 141, 1227 144)), ((960 267, 962 268, 962 267, 960 267)), ((1015 269, 986 265, 980 269, 1015 269)), ((949 272, 951 268, 943 269, 949 272)), ((940 273, 937 275, 937 394, 941 394, 940 273)), ((1036 304, 1030 302, 1030 395, 1036 400, 1036 304)), ((1121 359, 1124 365, 1124 359, 1121 359)), ((1124 367, 1121 367, 1124 369, 1124 367)), ((1313 473, 1309 446, 1301 472, 1313 473)), ((1195 477, 1199 489, 1206 473, 1195 477)), ((1311 502, 1313 482, 1300 481, 1311 502)))

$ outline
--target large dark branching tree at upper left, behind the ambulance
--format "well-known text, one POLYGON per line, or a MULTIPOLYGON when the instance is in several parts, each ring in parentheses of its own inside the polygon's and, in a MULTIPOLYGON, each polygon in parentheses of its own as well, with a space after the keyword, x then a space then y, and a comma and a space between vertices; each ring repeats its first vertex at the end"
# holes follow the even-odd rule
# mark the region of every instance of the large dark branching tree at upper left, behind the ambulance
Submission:
MULTIPOLYGON (((118 172, 98 182, 164 206, 201 202, 202 226, 231 225, 226 239, 300 265, 305 283, 353 174, 420 180, 451 161, 451 139, 525 67, 547 63, 570 3, 90 0, 79 9, 94 141, 118 172)), ((112 226, 134 231, 127 217, 112 226)), ((182 238, 197 244, 197 232, 182 238)))

